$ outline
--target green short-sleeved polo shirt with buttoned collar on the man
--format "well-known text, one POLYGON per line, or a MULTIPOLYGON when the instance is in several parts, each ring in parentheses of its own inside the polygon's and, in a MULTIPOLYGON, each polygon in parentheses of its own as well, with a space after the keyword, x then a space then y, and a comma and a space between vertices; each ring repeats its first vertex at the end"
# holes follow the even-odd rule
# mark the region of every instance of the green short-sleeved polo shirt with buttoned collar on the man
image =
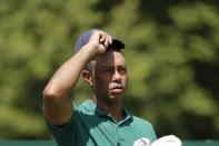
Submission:
POLYGON ((46 120, 59 146, 132 146, 142 137, 151 142, 157 139, 152 125, 131 115, 125 107, 123 119, 117 123, 91 99, 73 106, 73 115, 67 125, 59 127, 46 120))

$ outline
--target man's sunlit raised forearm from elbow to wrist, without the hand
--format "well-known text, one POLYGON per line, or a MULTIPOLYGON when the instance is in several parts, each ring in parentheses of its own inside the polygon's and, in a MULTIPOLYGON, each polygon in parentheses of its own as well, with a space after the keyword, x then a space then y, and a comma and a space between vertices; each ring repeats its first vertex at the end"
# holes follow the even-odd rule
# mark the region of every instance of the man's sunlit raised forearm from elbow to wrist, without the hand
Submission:
POLYGON ((68 97, 73 89, 80 72, 86 64, 92 58, 91 49, 84 46, 73 57, 68 59, 53 75, 47 85, 43 95, 68 97))

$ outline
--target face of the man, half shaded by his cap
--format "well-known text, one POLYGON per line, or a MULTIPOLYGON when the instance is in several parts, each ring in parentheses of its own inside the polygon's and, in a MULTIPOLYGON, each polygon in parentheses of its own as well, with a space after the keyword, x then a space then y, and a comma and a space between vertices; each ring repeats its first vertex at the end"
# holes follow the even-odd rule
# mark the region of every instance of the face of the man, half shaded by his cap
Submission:
POLYGON ((123 55, 110 49, 96 57, 92 64, 92 81, 97 98, 121 100, 128 86, 127 64, 123 55))

